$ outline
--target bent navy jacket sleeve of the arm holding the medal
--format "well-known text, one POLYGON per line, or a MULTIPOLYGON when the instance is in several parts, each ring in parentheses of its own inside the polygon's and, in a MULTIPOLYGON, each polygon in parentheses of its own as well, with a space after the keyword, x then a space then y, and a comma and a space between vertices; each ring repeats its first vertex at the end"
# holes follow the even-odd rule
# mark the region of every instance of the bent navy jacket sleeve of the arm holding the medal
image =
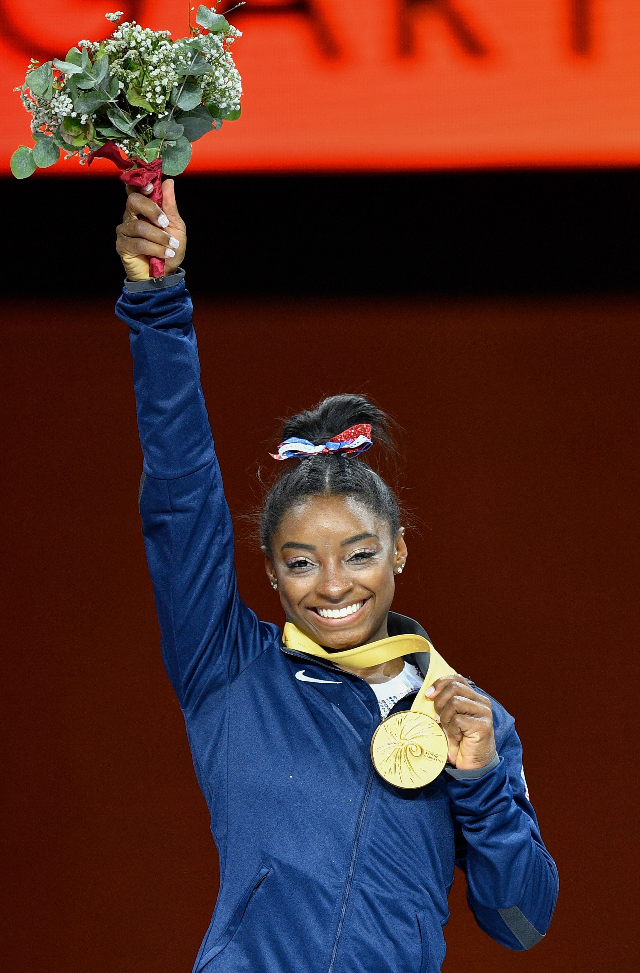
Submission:
POLYGON ((487 773, 458 774, 449 785, 456 864, 480 928, 503 946, 528 950, 551 922, 557 871, 528 800, 513 717, 494 703, 496 716, 498 759, 487 773))

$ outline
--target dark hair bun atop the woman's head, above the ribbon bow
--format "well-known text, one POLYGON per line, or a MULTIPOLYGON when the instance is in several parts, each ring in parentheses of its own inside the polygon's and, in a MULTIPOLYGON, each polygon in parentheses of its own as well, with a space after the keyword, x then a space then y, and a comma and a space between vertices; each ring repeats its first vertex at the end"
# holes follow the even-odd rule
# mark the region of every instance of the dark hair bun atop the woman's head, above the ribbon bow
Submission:
POLYGON ((297 436, 320 446, 338 433, 359 422, 372 427, 373 447, 382 446, 384 452, 393 452, 392 422, 386 413, 373 405, 365 395, 330 395, 319 402, 315 409, 292 415, 282 428, 281 441, 297 436))

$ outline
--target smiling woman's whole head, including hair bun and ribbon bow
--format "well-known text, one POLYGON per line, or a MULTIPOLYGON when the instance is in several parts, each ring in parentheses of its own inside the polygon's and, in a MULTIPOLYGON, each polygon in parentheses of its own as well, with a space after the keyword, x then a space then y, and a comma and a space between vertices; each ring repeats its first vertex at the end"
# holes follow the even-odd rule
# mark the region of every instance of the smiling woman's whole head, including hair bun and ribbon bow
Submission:
MULTIPOLYGON (((360 453, 373 440, 392 450, 387 416, 363 396, 335 395, 290 419, 283 440, 279 452, 288 448, 295 465, 268 492, 261 533, 287 618, 333 650, 386 638, 405 528, 392 490, 360 453), (353 446, 358 437, 365 442, 353 446)), ((396 675, 399 660, 387 665, 396 675)))

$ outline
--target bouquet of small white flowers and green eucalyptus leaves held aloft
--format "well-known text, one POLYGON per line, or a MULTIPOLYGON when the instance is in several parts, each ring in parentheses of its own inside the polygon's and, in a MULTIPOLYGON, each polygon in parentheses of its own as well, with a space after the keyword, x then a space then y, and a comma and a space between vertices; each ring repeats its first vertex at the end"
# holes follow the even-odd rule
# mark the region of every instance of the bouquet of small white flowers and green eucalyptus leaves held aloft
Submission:
MULTIPOLYGON (((32 148, 21 145, 11 160, 17 179, 60 158, 81 164, 103 157, 133 186, 154 187, 161 202, 161 174, 187 168, 192 142, 240 116, 240 75, 230 47, 240 31, 200 6, 190 36, 171 41, 167 30, 121 23, 107 14, 114 32, 104 41, 80 41, 64 60, 32 59, 20 91, 32 116, 32 148)), ((238 4, 241 6, 241 4, 238 4)), ((192 8, 193 9, 193 8, 192 8)), ((229 13, 229 12, 227 12, 229 13)), ((152 276, 163 261, 152 258, 152 276)))

